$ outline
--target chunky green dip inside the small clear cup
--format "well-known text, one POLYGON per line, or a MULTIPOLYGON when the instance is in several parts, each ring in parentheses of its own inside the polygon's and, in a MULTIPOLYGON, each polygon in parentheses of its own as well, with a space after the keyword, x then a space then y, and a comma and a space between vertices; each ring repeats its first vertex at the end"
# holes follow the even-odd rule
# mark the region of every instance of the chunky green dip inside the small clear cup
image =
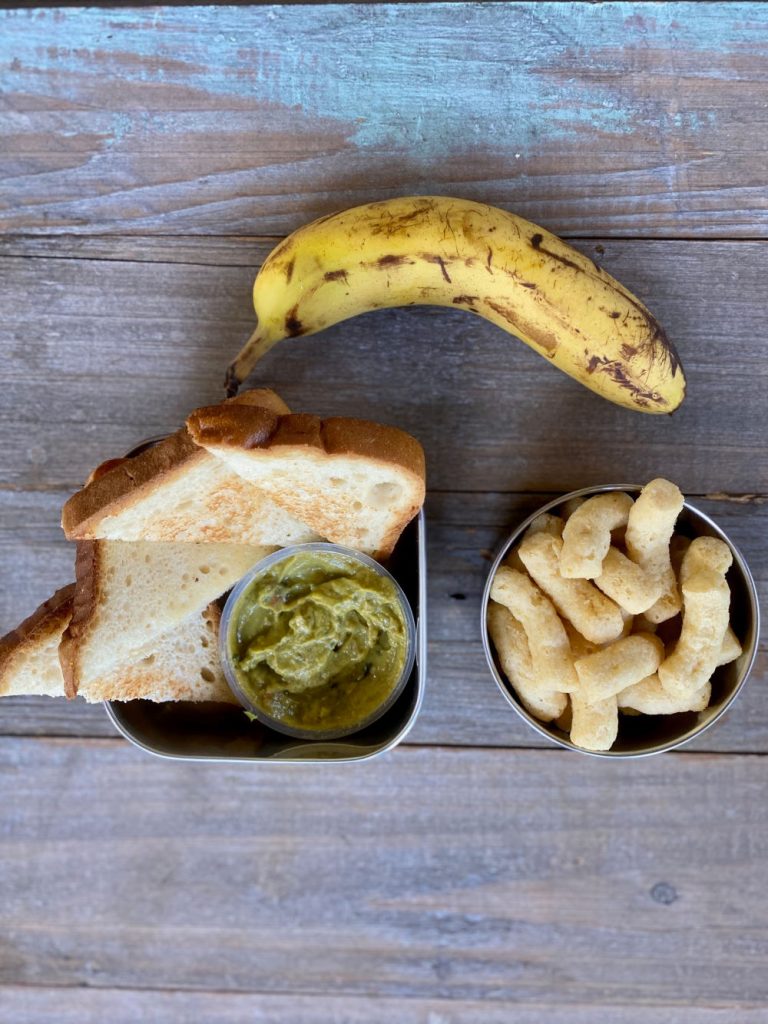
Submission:
POLYGON ((390 579, 340 552, 308 550, 246 588, 229 650, 244 692, 269 718, 351 732, 399 682, 408 631, 390 579))

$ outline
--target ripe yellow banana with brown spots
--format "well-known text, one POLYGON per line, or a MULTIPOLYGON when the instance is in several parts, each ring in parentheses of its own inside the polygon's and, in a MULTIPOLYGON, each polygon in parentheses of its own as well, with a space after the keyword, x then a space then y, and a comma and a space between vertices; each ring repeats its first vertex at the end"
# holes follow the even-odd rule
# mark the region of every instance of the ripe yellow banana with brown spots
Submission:
POLYGON ((253 301, 258 327, 229 366, 229 393, 284 338, 426 303, 485 317, 627 409, 671 413, 685 396, 677 352, 639 299, 545 228, 482 203, 414 196, 322 217, 269 254, 253 301))

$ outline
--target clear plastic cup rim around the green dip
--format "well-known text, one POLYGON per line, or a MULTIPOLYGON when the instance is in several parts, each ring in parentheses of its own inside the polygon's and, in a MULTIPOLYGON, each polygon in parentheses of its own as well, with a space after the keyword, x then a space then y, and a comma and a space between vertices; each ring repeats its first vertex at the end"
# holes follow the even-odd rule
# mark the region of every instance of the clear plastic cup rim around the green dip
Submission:
POLYGON ((243 577, 226 599, 226 604, 224 605, 224 610, 221 614, 219 657, 221 660, 221 667, 224 670, 224 676, 226 677, 226 681, 228 682, 232 693, 238 697, 243 707, 248 709, 248 711, 250 711, 262 725, 265 725, 270 729, 274 729, 278 732, 285 733, 287 736, 293 736, 297 739, 329 740, 339 739, 342 736, 351 736, 355 732, 360 732, 369 725, 373 725, 374 722, 378 721, 382 715, 389 711, 402 692, 406 683, 411 678, 414 660, 416 658, 416 622, 414 621, 411 605, 409 604, 408 598, 403 594, 400 585, 391 572, 388 572, 383 565, 380 565, 373 558, 369 558, 368 555, 360 554, 360 552, 354 551, 351 548, 344 548, 338 544, 317 542, 312 544, 297 544, 290 548, 281 548, 280 551, 275 551, 272 554, 267 555, 266 558, 262 558, 260 562, 254 565, 247 575, 243 577), (397 682, 387 694, 385 699, 382 700, 382 702, 378 705, 378 707, 371 712, 371 714, 369 714, 366 718, 360 719, 358 722, 355 722, 354 725, 347 726, 345 728, 305 729, 299 728, 298 726, 288 725, 279 719, 272 718, 253 700, 247 688, 243 685, 240 673, 238 672, 231 656, 231 638, 237 627, 238 609, 251 584, 274 565, 278 565, 280 562, 287 561, 289 558, 293 558, 295 555, 302 552, 328 552, 340 556, 342 561, 364 565, 367 568, 372 569, 378 575, 389 581, 397 599, 400 615, 406 627, 406 657, 402 664, 402 671, 400 672, 397 682))

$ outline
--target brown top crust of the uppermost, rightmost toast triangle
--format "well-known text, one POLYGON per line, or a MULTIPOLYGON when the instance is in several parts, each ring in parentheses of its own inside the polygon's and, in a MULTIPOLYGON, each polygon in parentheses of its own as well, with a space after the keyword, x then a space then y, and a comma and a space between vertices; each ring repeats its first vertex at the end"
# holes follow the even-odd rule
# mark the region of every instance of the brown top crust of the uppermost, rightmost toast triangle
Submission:
POLYGON ((332 417, 321 420, 305 413, 275 416, 256 406, 234 408, 207 406, 196 410, 186 421, 191 437, 200 444, 242 449, 272 449, 300 445, 319 449, 329 455, 352 455, 377 459, 426 476, 424 449, 397 427, 332 417))

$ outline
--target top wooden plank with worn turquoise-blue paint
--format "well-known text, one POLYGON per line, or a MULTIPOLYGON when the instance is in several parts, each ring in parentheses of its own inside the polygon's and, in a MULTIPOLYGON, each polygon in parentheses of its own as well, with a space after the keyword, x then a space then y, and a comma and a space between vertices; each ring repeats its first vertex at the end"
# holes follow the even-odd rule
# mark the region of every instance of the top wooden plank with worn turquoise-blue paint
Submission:
POLYGON ((392 191, 768 233, 760 3, 2 13, 6 229, 285 233, 392 191))

